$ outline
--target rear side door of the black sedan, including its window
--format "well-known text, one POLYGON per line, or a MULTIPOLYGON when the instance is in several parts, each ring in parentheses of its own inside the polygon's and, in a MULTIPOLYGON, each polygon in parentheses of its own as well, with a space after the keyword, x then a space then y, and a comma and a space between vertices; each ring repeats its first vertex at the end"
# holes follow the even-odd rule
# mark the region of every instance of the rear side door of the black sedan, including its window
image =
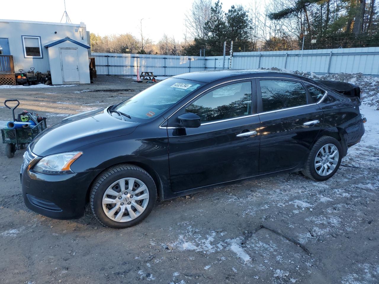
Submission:
POLYGON ((324 113, 301 81, 265 78, 256 83, 261 121, 259 173, 296 168, 321 130, 324 113))

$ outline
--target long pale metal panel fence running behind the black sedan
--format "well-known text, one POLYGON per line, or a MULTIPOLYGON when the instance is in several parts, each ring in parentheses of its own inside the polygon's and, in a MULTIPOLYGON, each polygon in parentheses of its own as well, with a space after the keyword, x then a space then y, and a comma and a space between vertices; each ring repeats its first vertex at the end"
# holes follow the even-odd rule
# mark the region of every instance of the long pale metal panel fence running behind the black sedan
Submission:
MULTIPOLYGON (((156 76, 173 76, 187 72, 219 70, 223 56, 175 56, 148 54, 96 53, 98 75, 136 76, 149 71, 156 76)), ((229 56, 225 57, 229 68, 229 56)), ((272 68, 290 71, 326 73, 363 73, 379 76, 379 47, 337 48, 318 50, 235 52, 233 69, 272 68)))

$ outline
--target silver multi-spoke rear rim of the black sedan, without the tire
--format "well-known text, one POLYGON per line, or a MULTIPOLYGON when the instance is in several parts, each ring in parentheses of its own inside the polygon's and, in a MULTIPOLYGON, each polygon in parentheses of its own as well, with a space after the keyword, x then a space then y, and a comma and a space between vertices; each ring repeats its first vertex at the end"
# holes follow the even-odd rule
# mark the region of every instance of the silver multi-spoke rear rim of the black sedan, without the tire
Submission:
POLYGON ((338 164, 340 153, 334 144, 326 144, 318 150, 315 158, 315 170, 320 176, 330 175, 338 164))

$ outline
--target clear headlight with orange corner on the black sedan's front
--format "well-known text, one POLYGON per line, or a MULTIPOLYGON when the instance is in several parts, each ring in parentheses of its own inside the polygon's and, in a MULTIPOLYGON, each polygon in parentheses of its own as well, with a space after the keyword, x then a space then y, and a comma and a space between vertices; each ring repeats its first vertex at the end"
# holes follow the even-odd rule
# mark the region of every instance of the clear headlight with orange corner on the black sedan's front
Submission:
POLYGON ((34 166, 33 170, 50 175, 72 173, 70 165, 75 162, 81 154, 83 154, 83 152, 67 152, 46 156, 34 166))

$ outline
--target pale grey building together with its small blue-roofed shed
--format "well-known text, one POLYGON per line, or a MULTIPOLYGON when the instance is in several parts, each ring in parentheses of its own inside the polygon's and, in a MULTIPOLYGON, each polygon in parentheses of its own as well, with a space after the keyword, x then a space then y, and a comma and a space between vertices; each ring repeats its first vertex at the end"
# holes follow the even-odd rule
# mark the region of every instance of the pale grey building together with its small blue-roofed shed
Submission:
POLYGON ((84 23, 0 20, 0 74, 10 69, 6 55, 11 55, 11 72, 34 67, 34 72, 50 71, 53 84, 90 83, 89 48, 84 23))

